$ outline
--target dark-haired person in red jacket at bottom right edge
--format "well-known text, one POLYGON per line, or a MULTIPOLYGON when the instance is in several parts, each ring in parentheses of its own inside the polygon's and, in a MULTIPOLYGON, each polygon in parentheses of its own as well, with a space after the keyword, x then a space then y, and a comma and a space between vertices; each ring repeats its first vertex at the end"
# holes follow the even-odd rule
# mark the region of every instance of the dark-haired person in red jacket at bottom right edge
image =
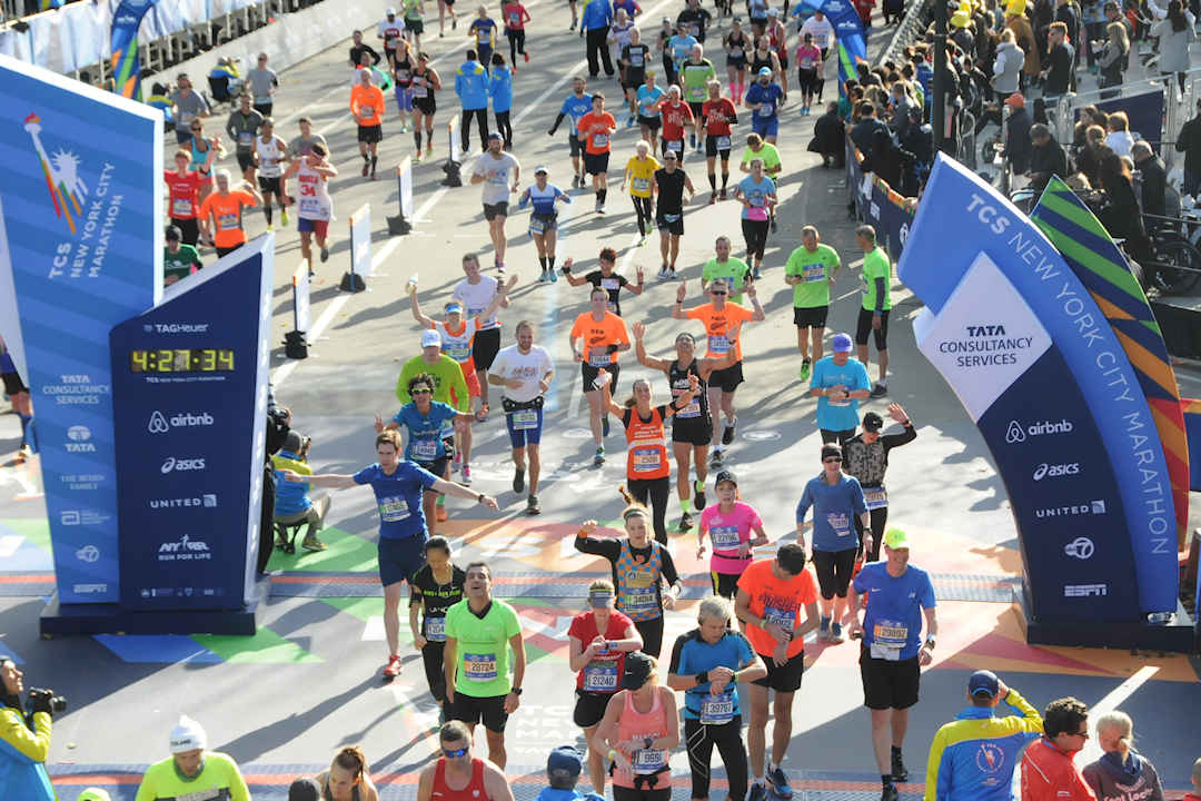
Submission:
POLYGON ((1088 707, 1059 698, 1042 715, 1042 739, 1022 755, 1022 801, 1097 801, 1072 763, 1088 741, 1088 707))

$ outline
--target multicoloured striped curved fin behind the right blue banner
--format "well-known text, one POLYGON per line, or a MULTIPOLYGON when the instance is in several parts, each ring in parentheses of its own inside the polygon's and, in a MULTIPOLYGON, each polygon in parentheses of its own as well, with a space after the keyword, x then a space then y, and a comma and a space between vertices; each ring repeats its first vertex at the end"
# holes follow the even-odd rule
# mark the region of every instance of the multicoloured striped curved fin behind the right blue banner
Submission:
POLYGON ((1189 530, 1189 446, 1181 390, 1147 295, 1100 220, 1058 178, 1051 178, 1030 220, 1088 288, 1139 376, 1167 459, 1176 507, 1176 543, 1183 549, 1189 530))

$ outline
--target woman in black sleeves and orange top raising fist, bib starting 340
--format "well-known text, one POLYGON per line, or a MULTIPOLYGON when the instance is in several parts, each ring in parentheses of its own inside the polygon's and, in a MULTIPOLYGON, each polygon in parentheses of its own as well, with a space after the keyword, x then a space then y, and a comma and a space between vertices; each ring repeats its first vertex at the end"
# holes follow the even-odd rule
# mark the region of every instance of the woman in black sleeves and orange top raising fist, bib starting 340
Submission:
POLYGON ((593 537, 597 521, 585 520, 575 534, 575 550, 609 560, 613 585, 617 588, 617 610, 634 621, 643 638, 643 653, 658 658, 663 651, 663 610, 675 609, 683 585, 671 552, 651 539, 646 507, 629 503, 621 519, 626 527, 625 540, 593 537), (662 588, 664 579, 667 592, 662 588))

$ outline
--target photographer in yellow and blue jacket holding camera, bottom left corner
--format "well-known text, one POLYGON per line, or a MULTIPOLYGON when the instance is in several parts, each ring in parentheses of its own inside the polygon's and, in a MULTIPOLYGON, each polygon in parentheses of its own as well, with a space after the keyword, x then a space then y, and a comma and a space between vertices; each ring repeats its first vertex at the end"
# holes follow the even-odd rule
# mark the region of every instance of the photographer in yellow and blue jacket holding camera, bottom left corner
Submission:
POLYGON ((48 689, 30 691, 30 713, 23 715, 23 675, 16 662, 0 659, 0 787, 5 797, 54 801, 46 760, 50 754, 50 715, 55 706, 62 710, 62 699, 48 689))

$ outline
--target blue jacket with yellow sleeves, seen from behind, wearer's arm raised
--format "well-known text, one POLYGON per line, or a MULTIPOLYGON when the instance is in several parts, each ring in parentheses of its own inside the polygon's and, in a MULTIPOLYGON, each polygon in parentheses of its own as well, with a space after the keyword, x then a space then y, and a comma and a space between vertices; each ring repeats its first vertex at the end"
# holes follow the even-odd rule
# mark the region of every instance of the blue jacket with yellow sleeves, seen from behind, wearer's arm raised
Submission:
POLYGON ((925 801, 1012 801, 1014 770, 1026 746, 1042 736, 1039 711, 1010 689, 1004 701, 1022 717, 996 717, 969 706, 934 735, 926 763, 925 801))

